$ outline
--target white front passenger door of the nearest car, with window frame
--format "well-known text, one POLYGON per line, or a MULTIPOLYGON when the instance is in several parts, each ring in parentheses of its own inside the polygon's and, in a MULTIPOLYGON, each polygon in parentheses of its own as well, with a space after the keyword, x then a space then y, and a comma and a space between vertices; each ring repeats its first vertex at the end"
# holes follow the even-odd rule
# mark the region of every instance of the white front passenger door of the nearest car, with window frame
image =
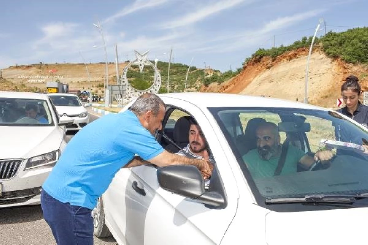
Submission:
MULTIPOLYGON (((170 104, 170 101, 165 102, 170 104)), ((226 157, 228 147, 220 143, 226 144, 226 140, 217 137, 222 137, 219 128, 212 127, 199 108, 188 102, 172 102, 194 116, 202 127, 217 162, 227 206, 208 208, 165 191, 159 187, 155 167, 133 167, 125 198, 122 197, 126 205, 124 237, 127 244, 220 244, 236 213, 238 200, 237 186, 226 157)))

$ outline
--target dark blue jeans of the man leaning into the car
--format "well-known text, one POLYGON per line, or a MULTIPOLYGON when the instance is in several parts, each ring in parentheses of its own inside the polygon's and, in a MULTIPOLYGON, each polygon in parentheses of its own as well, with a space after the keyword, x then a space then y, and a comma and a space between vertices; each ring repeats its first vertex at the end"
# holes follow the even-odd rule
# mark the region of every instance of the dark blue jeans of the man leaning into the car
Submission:
POLYGON ((58 245, 93 245, 91 209, 62 203, 44 190, 41 208, 58 245))

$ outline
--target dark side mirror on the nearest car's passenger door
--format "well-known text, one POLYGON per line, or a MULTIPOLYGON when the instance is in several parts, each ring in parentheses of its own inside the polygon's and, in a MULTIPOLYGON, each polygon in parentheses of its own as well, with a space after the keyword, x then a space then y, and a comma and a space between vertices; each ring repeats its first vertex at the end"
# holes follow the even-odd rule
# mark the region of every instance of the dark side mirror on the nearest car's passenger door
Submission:
POLYGON ((172 165, 160 167, 157 179, 161 188, 211 208, 226 206, 226 198, 216 191, 205 191, 205 181, 201 172, 191 165, 172 165))

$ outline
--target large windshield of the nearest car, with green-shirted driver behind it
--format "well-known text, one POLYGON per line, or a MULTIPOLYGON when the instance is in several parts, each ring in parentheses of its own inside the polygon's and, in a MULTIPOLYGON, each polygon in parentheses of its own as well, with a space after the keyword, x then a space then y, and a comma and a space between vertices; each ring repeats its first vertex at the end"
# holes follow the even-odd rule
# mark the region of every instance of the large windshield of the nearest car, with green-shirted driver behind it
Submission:
POLYGON ((210 111, 258 203, 264 204, 269 198, 368 192, 368 155, 362 147, 368 140, 367 130, 340 114, 292 108, 210 111), (275 127, 267 131, 265 125, 275 127), (314 154, 321 150, 332 152, 333 158, 315 162, 314 154), (305 159, 312 159, 310 167, 301 164, 305 159))

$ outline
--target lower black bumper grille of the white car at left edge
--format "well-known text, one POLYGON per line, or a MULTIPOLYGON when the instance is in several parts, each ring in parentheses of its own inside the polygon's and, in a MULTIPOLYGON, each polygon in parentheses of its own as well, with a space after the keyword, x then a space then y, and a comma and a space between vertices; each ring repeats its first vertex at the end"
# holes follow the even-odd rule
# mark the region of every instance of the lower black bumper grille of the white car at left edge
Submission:
POLYGON ((3 192, 0 196, 0 205, 26 202, 41 193, 41 187, 32 189, 3 192))

